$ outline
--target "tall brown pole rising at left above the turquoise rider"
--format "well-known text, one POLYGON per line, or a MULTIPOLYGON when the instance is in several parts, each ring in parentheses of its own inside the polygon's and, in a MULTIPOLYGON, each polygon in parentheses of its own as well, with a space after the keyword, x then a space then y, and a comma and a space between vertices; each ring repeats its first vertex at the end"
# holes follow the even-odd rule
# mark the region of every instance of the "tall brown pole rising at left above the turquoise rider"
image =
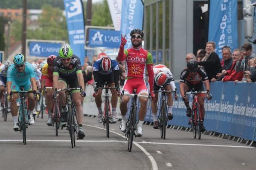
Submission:
POLYGON ((22 54, 26 54, 26 12, 27 12, 27 0, 23 0, 23 15, 22 15, 22 54))

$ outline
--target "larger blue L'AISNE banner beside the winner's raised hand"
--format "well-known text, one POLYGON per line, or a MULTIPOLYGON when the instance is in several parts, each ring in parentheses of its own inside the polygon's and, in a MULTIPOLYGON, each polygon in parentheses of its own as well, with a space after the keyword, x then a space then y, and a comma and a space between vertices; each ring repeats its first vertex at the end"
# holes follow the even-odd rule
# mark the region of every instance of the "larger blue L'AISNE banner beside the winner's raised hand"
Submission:
POLYGON ((90 29, 89 30, 90 47, 119 48, 120 31, 90 29))

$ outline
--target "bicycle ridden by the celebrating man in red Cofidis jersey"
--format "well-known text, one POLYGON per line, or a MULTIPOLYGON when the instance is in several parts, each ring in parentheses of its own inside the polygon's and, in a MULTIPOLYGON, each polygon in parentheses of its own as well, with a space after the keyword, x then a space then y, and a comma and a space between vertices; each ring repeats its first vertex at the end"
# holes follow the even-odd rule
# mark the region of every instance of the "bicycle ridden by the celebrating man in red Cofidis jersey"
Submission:
POLYGON ((121 100, 122 100, 122 96, 131 96, 133 97, 132 102, 131 102, 131 112, 128 118, 128 121, 126 122, 126 132, 125 132, 125 138, 126 140, 128 139, 128 150, 129 152, 131 152, 131 148, 132 148, 132 143, 133 143, 133 136, 136 137, 136 134, 134 133, 135 130, 137 130, 137 123, 136 123, 136 119, 137 119, 137 98, 138 97, 144 97, 144 98, 149 98, 150 102, 151 102, 151 97, 150 95, 145 96, 145 95, 140 95, 136 93, 136 89, 133 91, 133 94, 126 94, 124 93, 124 91, 122 91, 121 94, 121 100))

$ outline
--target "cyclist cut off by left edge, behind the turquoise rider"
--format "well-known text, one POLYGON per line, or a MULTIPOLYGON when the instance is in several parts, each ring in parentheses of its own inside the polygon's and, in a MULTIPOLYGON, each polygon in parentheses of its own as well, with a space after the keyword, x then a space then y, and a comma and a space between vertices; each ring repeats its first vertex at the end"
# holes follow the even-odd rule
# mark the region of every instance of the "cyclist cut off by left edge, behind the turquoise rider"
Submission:
MULTIPOLYGON (((9 66, 12 65, 12 62, 7 59, 3 65, 0 66, 0 85, 6 85, 6 75, 7 75, 7 70, 9 66)), ((4 87, 0 87, 0 99, 2 99, 3 96, 3 91, 4 87)), ((2 100, 1 100, 2 102, 2 100)), ((1 103, 2 104, 2 103, 1 103)), ((2 106, 0 105, 0 111, 2 110, 2 106)))

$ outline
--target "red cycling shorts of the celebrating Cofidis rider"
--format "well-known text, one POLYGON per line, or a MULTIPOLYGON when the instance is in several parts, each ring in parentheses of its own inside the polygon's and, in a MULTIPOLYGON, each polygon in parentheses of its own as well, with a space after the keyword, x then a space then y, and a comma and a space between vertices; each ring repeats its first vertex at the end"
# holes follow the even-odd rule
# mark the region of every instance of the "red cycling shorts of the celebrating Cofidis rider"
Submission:
POLYGON ((122 91, 124 90, 126 93, 133 94, 134 89, 137 89, 137 94, 148 94, 148 88, 143 78, 134 77, 131 79, 125 79, 122 91))

